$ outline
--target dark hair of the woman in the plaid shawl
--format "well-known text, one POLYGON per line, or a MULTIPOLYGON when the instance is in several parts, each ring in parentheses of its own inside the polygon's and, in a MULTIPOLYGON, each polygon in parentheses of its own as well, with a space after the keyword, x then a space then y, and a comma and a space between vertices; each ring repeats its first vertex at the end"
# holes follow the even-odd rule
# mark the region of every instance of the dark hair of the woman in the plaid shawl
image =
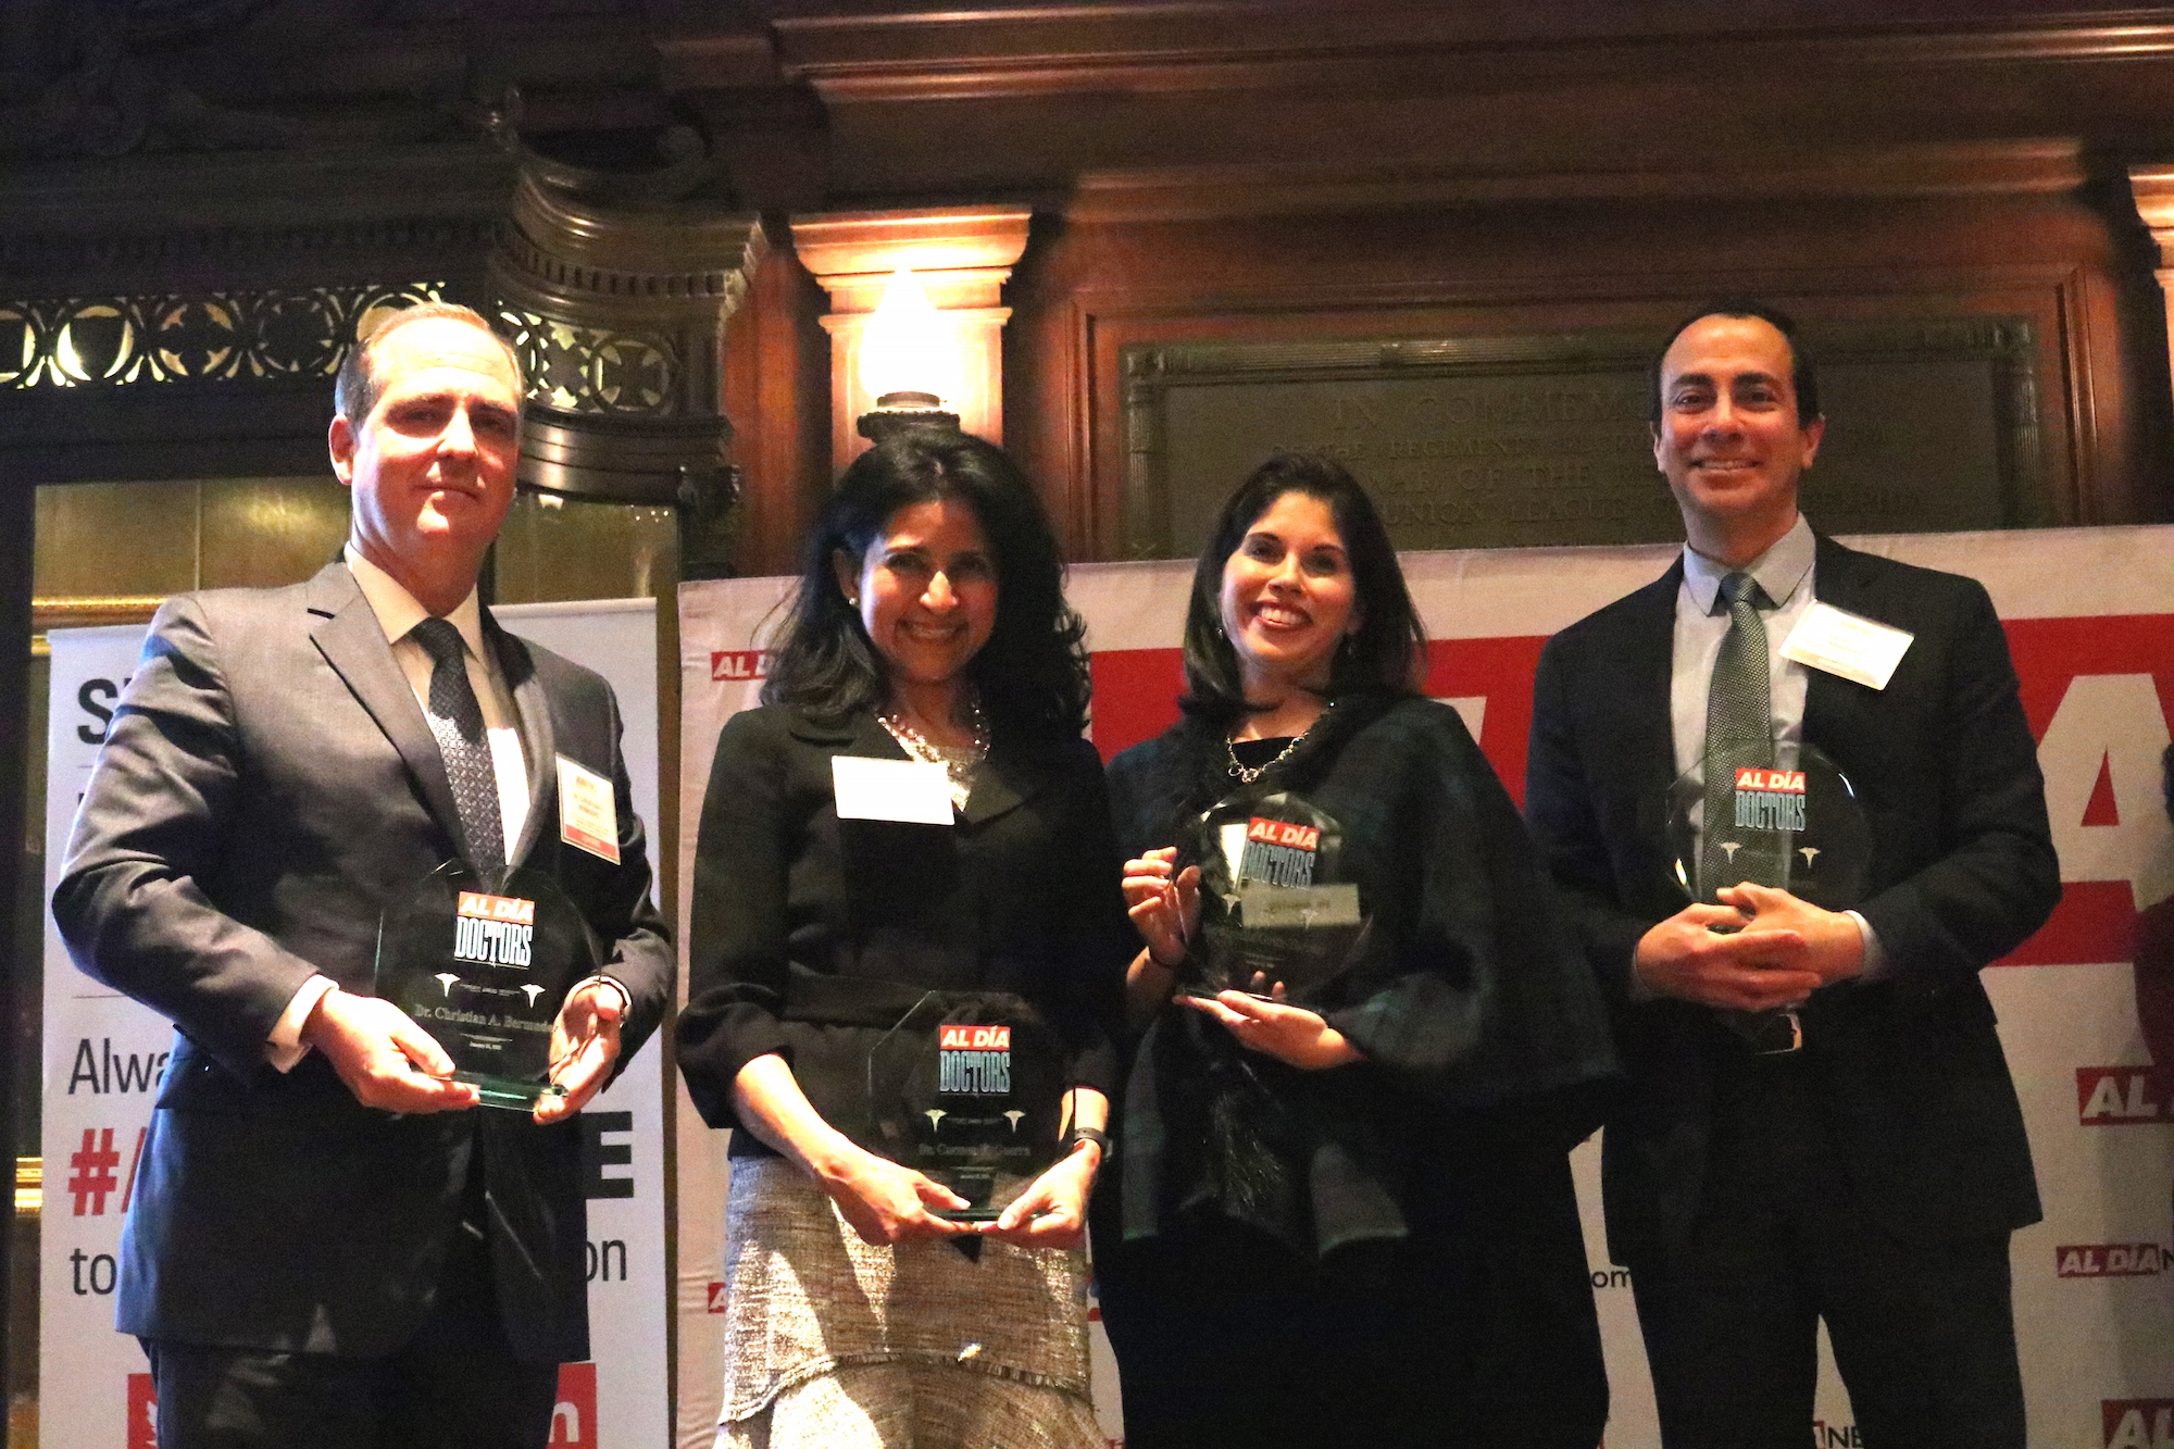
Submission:
POLYGON ((1194 596, 1185 609, 1185 698, 1178 705, 1213 729, 1228 729, 1248 709, 1237 651, 1222 627, 1224 564, 1261 513, 1285 494, 1307 494, 1328 505, 1352 570, 1359 629, 1337 646, 1328 666, 1328 698, 1354 690, 1411 694, 1420 683, 1426 624, 1411 605, 1396 544, 1389 542, 1374 500, 1337 461, 1313 453, 1278 453, 1230 494, 1194 568, 1194 596))

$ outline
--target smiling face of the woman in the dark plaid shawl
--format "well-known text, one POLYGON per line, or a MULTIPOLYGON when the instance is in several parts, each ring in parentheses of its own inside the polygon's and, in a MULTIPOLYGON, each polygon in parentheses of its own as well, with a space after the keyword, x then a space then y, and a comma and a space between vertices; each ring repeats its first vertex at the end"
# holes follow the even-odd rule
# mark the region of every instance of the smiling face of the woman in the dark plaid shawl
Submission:
POLYGON ((1246 694, 1326 685, 1337 644, 1359 629, 1357 598, 1330 507, 1278 494, 1224 559, 1217 596, 1246 694))

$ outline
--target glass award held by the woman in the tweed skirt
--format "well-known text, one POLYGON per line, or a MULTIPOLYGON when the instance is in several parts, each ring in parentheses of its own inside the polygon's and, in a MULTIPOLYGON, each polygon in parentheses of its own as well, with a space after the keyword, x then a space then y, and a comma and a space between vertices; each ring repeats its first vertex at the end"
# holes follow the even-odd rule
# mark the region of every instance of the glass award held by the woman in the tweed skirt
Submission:
POLYGON ((865 1116, 839 1127, 967 1203, 935 1216, 987 1223, 1063 1155, 1065 1075, 1020 996, 928 992, 867 1053, 865 1116))

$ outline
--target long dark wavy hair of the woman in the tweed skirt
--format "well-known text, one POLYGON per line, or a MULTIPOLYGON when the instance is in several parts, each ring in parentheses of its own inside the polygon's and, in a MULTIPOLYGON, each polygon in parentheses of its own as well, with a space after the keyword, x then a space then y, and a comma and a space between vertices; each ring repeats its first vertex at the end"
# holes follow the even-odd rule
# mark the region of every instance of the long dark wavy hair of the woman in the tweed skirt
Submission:
POLYGON ((837 722, 885 703, 883 659, 837 587, 898 509, 954 498, 974 509, 996 566, 996 627, 967 664, 1000 738, 1078 735, 1087 725, 1087 624, 1065 603, 1063 559, 1020 466, 967 433, 915 429, 857 457, 809 529, 800 590, 763 683, 765 705, 837 722))

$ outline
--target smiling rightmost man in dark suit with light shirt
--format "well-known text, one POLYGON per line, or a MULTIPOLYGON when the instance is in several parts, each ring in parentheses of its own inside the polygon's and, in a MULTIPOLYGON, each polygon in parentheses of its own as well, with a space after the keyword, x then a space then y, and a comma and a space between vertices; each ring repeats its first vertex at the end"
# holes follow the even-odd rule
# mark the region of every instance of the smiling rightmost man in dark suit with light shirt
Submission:
POLYGON ((1785 315, 1678 329, 1652 446, 1683 559, 1550 640, 1535 679, 1526 814, 1630 1075, 1602 1138, 1609 1249, 1672 1449, 1800 1447, 1820 1321, 1865 1445, 2022 1449, 2009 1234, 2039 1203, 1978 968, 2059 899, 2044 781, 1985 590, 1798 513, 1824 431, 1785 315), (1783 655, 1837 631, 1902 644, 1881 688, 1783 655), (1761 886, 1689 903, 1670 785, 1744 716, 1850 777, 1854 909, 1761 886), (1746 1014, 1783 1010, 1798 1049, 1750 1040, 1746 1014))

